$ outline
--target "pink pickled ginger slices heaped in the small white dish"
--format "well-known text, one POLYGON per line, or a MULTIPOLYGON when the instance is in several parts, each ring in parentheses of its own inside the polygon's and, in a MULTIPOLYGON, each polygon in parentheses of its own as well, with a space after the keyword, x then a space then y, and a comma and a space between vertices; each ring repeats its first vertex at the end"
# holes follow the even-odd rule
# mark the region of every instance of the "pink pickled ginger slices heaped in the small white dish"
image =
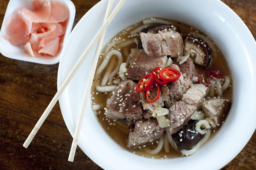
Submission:
POLYGON ((17 8, 6 19, 3 37, 12 45, 24 44, 32 57, 56 56, 66 30, 68 7, 50 0, 33 0, 34 10, 17 8))

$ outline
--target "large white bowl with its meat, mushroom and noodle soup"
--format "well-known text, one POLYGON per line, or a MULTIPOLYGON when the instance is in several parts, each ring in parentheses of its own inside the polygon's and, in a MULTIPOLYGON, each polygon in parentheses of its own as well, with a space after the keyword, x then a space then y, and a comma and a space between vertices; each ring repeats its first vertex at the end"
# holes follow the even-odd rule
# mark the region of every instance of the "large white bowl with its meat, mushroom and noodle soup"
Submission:
MULTIPOLYGON (((107 3, 69 36, 58 88, 101 27, 107 3)), ((250 139, 256 43, 222 2, 126 1, 103 44, 78 141, 102 168, 220 169, 250 139)), ((71 135, 94 52, 59 100, 71 135)))

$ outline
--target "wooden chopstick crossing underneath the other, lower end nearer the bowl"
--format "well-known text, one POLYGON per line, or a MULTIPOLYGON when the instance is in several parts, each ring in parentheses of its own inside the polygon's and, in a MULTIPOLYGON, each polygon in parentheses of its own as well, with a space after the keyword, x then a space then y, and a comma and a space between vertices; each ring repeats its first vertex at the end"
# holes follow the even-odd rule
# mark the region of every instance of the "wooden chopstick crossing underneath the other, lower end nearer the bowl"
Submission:
MULTIPOLYGON (((103 24, 105 23, 106 19, 110 15, 113 3, 114 3, 114 0, 109 0, 108 1, 108 7, 107 7, 107 11, 106 11, 106 14, 105 14, 103 24)), ((83 123, 83 120, 84 120, 84 113, 85 113, 87 101, 88 101, 89 95, 91 94, 90 91, 91 91, 91 87, 92 87, 92 80, 93 80, 95 70, 96 70, 96 66, 97 66, 97 63, 98 63, 98 60, 99 60, 100 50, 101 50, 101 47, 102 47, 102 44, 103 44, 105 34, 106 34, 106 30, 103 32, 103 34, 100 37, 100 40, 98 42, 98 45, 97 45, 97 48, 96 48, 96 51, 95 51, 95 54, 94 54, 94 57, 93 57, 93 60, 92 60, 92 67, 91 67, 91 70, 90 70, 90 73, 89 73, 89 78, 88 78, 86 88, 85 88, 85 91, 84 91, 84 98, 83 98, 81 111, 79 113, 78 122, 76 124, 74 139, 73 139, 73 142, 72 142, 72 145, 71 145, 71 148, 70 148, 70 152, 69 152, 69 156, 68 156, 68 161, 70 161, 70 162, 74 161, 74 157, 75 157, 75 153, 76 153, 76 146, 77 146, 78 138, 79 138, 79 135, 80 135, 80 130, 81 130, 81 127, 82 127, 82 123, 83 123)))

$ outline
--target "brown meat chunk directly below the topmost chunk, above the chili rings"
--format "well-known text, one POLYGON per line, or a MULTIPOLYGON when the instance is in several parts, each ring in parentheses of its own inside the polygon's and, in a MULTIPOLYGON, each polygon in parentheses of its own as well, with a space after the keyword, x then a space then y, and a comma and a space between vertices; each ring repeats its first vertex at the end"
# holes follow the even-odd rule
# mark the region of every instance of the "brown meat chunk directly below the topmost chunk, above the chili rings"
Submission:
POLYGON ((143 49, 132 49, 130 55, 127 77, 132 80, 140 80, 147 73, 151 73, 154 68, 164 67, 167 61, 167 56, 149 57, 143 49))

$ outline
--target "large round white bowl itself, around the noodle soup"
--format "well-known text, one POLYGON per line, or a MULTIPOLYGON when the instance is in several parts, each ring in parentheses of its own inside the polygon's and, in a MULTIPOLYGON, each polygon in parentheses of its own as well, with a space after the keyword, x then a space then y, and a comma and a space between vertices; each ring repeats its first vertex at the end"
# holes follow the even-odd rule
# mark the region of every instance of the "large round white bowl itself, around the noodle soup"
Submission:
MULTIPOLYGON (((118 0, 115 0, 116 5, 118 0)), ((78 22, 64 47, 58 88, 102 25, 107 0, 96 4, 78 22)), ((122 29, 145 18, 168 18, 203 31, 219 46, 233 81, 232 106, 218 133, 189 157, 151 159, 132 154, 103 130, 88 101, 78 145, 104 169, 220 169, 244 148, 256 127, 256 43, 244 22, 219 0, 129 0, 107 29, 104 44, 122 29)), ((75 132, 87 74, 95 48, 60 97, 60 108, 70 134, 75 132)), ((70 139, 71 144, 72 139, 70 139)), ((76 159, 76 158, 75 158, 76 159)))

